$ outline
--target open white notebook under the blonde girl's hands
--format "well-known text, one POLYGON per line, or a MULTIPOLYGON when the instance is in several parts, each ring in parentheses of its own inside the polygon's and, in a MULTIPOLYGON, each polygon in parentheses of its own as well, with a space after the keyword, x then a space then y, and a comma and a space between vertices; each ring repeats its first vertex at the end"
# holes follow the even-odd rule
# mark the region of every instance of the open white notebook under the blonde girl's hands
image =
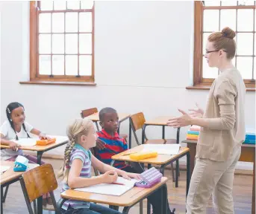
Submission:
POLYGON ((74 190, 81 191, 81 192, 91 192, 91 193, 99 193, 103 195, 116 195, 120 196, 127 192, 128 190, 134 187, 134 184, 137 182, 136 179, 131 179, 130 181, 118 177, 116 183, 118 184, 97 184, 91 187, 84 187, 84 188, 76 188, 74 190), (119 185, 124 184, 124 185, 119 185))

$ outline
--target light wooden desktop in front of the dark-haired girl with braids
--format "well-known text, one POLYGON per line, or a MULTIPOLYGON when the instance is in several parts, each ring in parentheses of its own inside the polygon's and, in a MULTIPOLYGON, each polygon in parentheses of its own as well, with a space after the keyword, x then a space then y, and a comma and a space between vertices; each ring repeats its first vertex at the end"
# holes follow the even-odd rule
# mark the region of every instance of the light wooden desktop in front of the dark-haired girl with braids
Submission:
MULTIPOLYGON (((46 146, 21 146, 20 149, 43 152, 43 151, 48 151, 50 149, 54 149, 57 146, 62 146, 68 142, 69 142, 69 140, 57 140, 56 143, 50 143, 46 146)), ((10 149, 10 146, 0 145, 0 148, 1 149, 10 149)))

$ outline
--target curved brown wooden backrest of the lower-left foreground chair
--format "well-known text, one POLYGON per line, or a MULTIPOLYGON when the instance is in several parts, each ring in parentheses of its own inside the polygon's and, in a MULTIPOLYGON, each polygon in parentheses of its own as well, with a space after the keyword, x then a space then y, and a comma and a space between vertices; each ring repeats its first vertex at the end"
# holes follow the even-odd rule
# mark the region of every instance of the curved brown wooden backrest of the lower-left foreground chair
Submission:
POLYGON ((57 181, 51 164, 43 164, 22 175, 29 201, 57 189, 57 181))

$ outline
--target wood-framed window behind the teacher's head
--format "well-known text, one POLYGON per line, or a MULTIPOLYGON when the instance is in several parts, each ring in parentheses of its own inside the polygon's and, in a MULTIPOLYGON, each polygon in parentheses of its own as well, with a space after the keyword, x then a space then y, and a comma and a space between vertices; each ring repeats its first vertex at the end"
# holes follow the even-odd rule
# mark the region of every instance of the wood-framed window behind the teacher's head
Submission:
POLYGON ((255 19, 255 1, 195 1, 193 83, 196 88, 208 88, 219 74, 218 69, 209 68, 204 59, 207 36, 223 27, 231 27, 236 32, 237 42, 234 65, 241 72, 246 88, 255 91, 255 19))

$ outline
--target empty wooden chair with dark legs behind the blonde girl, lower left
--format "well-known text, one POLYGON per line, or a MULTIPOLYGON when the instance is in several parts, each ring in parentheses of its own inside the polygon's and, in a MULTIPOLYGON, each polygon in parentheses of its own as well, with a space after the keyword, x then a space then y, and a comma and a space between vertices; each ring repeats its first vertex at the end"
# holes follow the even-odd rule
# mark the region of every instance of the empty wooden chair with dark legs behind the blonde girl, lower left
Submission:
POLYGON ((43 164, 34 169, 25 172, 20 179, 22 191, 25 196, 25 201, 28 207, 28 213, 37 213, 35 200, 40 198, 47 192, 51 195, 51 201, 55 212, 60 213, 57 207, 53 191, 57 189, 57 181, 54 175, 54 170, 51 164, 43 164), (34 212, 31 207, 31 202, 34 203, 34 212))

